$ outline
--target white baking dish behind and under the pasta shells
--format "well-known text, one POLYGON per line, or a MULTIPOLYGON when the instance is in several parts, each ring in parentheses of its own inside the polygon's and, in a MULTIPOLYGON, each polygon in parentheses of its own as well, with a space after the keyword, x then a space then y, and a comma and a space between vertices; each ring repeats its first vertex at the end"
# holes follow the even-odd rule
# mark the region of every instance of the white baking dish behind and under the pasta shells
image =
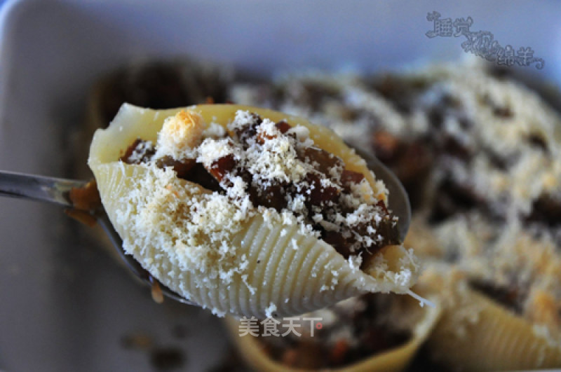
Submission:
MULTIPOLYGON (((460 38, 425 35, 432 11, 471 16, 472 29, 492 32, 501 45, 531 47, 545 67, 513 68, 560 84, 555 1, 7 1, 0 13, 0 169, 68 177, 67 134, 81 125, 90 87, 124 63, 193 55, 276 74, 464 57, 460 38)), ((153 303, 83 228, 57 207, 0 199, 0 370, 151 371, 154 347, 174 348, 186 371, 216 364, 227 347, 219 320, 153 303), (179 334, 184 329, 187 336, 179 334), (123 346, 139 334, 153 347, 123 346)))

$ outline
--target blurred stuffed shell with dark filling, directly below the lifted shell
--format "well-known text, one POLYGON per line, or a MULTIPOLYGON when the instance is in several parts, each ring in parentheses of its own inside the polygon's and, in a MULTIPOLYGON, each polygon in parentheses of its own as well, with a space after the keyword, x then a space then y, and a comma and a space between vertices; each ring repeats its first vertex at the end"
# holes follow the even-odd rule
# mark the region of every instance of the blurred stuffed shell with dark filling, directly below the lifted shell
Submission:
POLYGON ((364 294, 304 314, 290 333, 285 322, 271 326, 271 319, 252 333, 241 321, 226 320, 237 350, 255 371, 402 371, 431 334, 440 310, 421 308, 409 296, 364 294))

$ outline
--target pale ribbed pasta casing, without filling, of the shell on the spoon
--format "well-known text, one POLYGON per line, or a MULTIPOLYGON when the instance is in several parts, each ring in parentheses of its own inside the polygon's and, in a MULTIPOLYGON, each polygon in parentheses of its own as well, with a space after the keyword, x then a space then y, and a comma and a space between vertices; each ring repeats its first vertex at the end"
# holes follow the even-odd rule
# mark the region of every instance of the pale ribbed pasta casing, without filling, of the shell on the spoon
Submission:
MULTIPOLYGON (((343 158, 349 168, 365 173, 376 189, 363 160, 326 128, 246 106, 189 109, 206 123, 226 125, 242 109, 271 120, 306 125, 318 146, 343 158)), ((236 222, 239 211, 225 195, 211 197, 210 191, 154 165, 117 161, 135 139, 156 141, 164 119, 179 111, 123 105, 109 128, 95 133, 88 161, 124 249, 163 284, 218 315, 229 312, 260 318, 271 313, 309 312, 370 291, 405 292, 413 284, 417 266, 408 254, 386 254, 399 262, 388 263, 382 257, 378 263, 388 268, 387 275, 372 277, 323 240, 308 235, 294 216, 280 218, 269 209, 236 222), (204 223, 215 229, 192 233, 193 226, 204 223), (212 246, 211 235, 229 230, 222 226, 230 226, 232 233, 219 247, 212 246)), ((403 247, 394 249, 405 252, 403 247)))

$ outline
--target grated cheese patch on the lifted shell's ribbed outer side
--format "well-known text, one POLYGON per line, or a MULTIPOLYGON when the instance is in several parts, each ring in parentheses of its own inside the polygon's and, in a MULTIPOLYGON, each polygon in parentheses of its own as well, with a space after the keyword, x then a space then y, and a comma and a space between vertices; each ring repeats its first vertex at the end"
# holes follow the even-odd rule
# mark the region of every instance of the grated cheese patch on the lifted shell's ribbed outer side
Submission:
MULTIPOLYGON (((173 172, 153 165, 139 166, 149 172, 133 180, 135 188, 126 195, 127 207, 116 212, 118 223, 133 221, 133 233, 128 236, 135 240, 123 241, 126 252, 132 254, 155 244, 165 250, 159 254, 169 255, 177 268, 196 270, 205 280, 220 277, 229 283, 234 276, 242 275, 247 260, 229 241, 255 211, 239 207, 226 195, 201 193, 200 188, 184 184, 173 172)), ((147 256, 147 266, 151 266, 147 256)))

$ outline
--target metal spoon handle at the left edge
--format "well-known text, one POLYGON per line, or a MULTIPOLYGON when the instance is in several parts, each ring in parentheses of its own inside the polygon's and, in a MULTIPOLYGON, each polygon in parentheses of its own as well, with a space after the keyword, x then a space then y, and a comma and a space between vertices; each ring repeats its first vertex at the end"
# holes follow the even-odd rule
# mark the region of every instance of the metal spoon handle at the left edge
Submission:
POLYGON ((86 181, 0 171, 1 196, 53 202, 64 207, 72 207, 69 191, 85 184, 86 181))

